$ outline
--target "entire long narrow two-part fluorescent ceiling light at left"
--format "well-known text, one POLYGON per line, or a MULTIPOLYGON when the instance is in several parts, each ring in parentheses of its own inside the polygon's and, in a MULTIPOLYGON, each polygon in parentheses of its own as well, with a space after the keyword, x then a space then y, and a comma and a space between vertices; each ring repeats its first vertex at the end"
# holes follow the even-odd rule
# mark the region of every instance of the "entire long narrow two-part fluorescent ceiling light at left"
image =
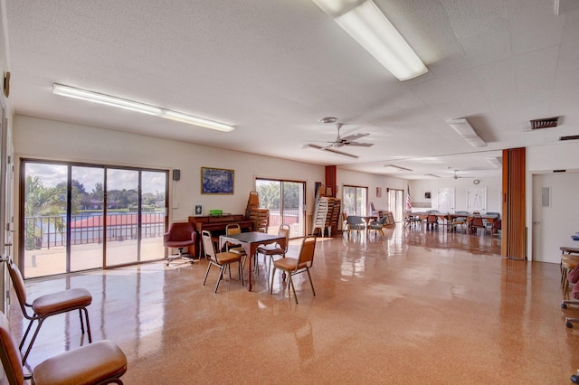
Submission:
POLYGON ((60 95, 68 98, 81 99, 93 103, 104 104, 110 107, 128 109, 131 111, 140 112, 141 114, 165 117, 167 119, 176 120, 178 122, 186 123, 189 125, 211 128, 217 131, 230 132, 235 129, 233 126, 215 122, 214 120, 205 119, 204 117, 195 117, 193 115, 184 114, 182 112, 151 106, 145 103, 139 103, 138 101, 117 98, 87 89, 77 89, 74 87, 64 86, 58 83, 54 83, 52 85, 52 93, 54 95, 60 95))

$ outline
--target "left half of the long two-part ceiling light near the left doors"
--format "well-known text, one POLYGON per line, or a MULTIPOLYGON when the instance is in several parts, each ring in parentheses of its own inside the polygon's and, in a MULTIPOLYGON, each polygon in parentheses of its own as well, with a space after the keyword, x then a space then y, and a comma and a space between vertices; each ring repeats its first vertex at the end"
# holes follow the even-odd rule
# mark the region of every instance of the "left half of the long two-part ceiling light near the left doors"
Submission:
POLYGON ((155 115, 157 117, 163 113, 162 108, 149 106, 128 99, 111 97, 109 95, 100 94, 86 89, 75 89, 74 87, 63 86, 62 84, 57 83, 52 85, 52 93, 54 95, 91 101, 93 103, 104 104, 111 107, 129 109, 131 111, 140 112, 141 114, 155 115))

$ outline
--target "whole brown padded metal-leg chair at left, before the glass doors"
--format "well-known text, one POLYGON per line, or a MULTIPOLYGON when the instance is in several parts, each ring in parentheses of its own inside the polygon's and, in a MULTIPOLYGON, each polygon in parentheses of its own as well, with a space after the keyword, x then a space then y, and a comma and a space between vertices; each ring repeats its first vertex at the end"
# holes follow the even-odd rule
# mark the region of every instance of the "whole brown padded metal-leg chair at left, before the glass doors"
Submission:
POLYGON ((87 306, 92 303, 92 296, 90 295, 89 290, 81 287, 62 290, 56 293, 39 296, 33 300, 32 304, 29 304, 28 297, 26 295, 26 286, 24 286, 24 278, 12 260, 8 262, 8 271, 10 272, 10 278, 12 280, 12 285, 14 286, 14 291, 16 292, 16 297, 18 298, 18 303, 20 304, 22 314, 24 315, 24 318, 30 320, 30 323, 26 328, 26 332, 24 332, 24 336, 22 337, 22 341, 20 342, 20 350, 22 350, 24 347, 26 337, 28 337, 28 333, 30 332, 34 321, 38 321, 38 326, 36 326, 32 339, 30 340, 30 343, 28 343, 28 348, 26 348, 26 352, 24 352, 24 356, 22 358, 23 363, 26 362, 28 354, 33 348, 34 340, 36 340, 36 336, 38 335, 44 320, 51 315, 60 315, 62 313, 78 310, 81 317, 81 331, 84 334, 84 322, 82 320, 82 313, 84 312, 84 320, 87 323, 87 335, 89 336, 89 343, 92 342, 92 337, 90 335, 89 312, 87 311, 87 306), (28 309, 32 310, 32 315, 29 314, 28 309))

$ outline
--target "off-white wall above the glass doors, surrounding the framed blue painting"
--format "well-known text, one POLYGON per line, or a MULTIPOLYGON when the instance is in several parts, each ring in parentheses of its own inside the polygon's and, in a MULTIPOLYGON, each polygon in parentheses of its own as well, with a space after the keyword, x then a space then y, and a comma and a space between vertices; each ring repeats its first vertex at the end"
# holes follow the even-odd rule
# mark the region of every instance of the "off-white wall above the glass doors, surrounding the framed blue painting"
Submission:
MULTIPOLYGON (((312 197, 315 182, 325 179, 325 170, 321 165, 35 117, 14 118, 14 150, 18 159, 30 157, 164 170, 179 169, 181 180, 170 183, 169 202, 178 205, 178 209, 171 212, 172 221, 186 221, 188 216, 193 215, 195 204, 203 205, 205 215, 210 209, 245 213, 249 192, 255 189, 256 176, 304 181, 307 183, 308 196, 312 197), (202 166, 235 170, 234 194, 202 195, 202 166)), ((312 200, 308 200, 308 212, 313 210, 312 205, 312 200)))

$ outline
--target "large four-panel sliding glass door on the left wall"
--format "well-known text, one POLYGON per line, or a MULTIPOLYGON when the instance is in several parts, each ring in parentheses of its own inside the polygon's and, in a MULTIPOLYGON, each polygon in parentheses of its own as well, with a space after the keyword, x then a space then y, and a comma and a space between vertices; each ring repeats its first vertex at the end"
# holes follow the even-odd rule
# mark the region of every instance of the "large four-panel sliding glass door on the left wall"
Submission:
POLYGON ((24 277, 164 258, 168 172, 22 162, 24 277))

